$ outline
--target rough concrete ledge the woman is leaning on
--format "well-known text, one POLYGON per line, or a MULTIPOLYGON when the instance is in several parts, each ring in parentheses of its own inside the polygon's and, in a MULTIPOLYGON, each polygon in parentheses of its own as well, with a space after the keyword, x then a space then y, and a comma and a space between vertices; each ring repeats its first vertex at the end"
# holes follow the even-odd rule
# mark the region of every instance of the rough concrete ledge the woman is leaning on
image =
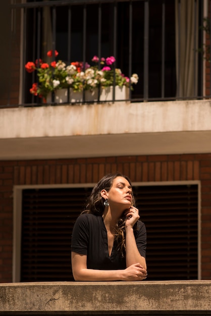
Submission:
POLYGON ((1 315, 211 315, 211 281, 0 284, 1 315))

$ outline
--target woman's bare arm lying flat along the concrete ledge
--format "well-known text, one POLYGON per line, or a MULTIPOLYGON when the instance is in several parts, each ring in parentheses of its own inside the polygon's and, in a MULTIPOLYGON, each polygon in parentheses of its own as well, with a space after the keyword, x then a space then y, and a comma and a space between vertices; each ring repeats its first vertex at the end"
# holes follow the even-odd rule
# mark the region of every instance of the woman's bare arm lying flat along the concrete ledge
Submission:
POLYGON ((87 269, 87 256, 72 252, 72 271, 75 281, 141 281, 146 278, 145 269, 139 263, 125 270, 87 269))

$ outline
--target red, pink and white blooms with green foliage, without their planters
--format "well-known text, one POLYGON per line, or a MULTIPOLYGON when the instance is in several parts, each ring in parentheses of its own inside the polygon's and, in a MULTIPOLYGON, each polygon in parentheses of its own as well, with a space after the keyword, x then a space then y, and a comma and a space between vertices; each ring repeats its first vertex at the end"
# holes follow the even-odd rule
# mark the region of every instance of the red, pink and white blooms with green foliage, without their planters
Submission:
MULTIPOLYGON (((55 57, 59 55, 55 50, 55 57)), ((52 50, 47 52, 48 57, 52 57, 52 50)), ((72 88, 73 91, 92 90, 95 87, 109 87, 114 85, 131 87, 138 82, 138 75, 133 74, 131 78, 122 74, 121 69, 115 69, 115 58, 99 58, 94 56, 92 62, 73 62, 66 65, 63 61, 52 61, 50 64, 39 61, 28 62, 25 69, 28 73, 37 72, 38 83, 32 84, 30 93, 46 99, 47 94, 57 89, 72 88), (100 65, 100 67, 99 67, 100 65), (105 66, 106 65, 106 66, 105 66), (99 69, 101 68, 101 69, 99 69)))

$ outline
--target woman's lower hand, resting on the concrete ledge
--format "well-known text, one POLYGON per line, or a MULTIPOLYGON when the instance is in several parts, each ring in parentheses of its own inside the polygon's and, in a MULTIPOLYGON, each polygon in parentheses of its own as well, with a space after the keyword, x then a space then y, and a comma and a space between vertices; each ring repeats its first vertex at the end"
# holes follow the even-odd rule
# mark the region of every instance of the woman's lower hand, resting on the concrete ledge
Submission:
POLYGON ((134 264, 123 270, 122 281, 142 281, 147 277, 147 271, 139 264, 134 264))

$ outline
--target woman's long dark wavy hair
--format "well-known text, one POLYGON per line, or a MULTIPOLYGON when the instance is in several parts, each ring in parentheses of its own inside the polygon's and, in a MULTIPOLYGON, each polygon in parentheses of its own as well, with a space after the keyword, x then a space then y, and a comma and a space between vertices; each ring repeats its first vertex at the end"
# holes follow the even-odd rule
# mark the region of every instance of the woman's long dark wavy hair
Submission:
MULTIPOLYGON (((107 190, 109 191, 113 185, 114 179, 117 177, 125 178, 131 185, 131 180, 127 177, 122 175, 121 173, 117 172, 115 174, 108 174, 105 175, 99 182, 94 186, 90 196, 87 199, 87 204, 85 210, 83 210, 82 214, 84 213, 91 213, 96 216, 102 216, 104 211, 104 201, 105 199, 101 196, 101 191, 107 190)), ((132 205, 135 205, 135 199, 132 192, 132 205)), ((117 220, 117 223, 114 227, 115 229, 115 240, 117 240, 118 244, 118 252, 122 256, 125 256, 125 221, 126 218, 124 214, 122 217, 117 220)), ((137 223, 134 225, 134 229, 136 229, 137 223)))

